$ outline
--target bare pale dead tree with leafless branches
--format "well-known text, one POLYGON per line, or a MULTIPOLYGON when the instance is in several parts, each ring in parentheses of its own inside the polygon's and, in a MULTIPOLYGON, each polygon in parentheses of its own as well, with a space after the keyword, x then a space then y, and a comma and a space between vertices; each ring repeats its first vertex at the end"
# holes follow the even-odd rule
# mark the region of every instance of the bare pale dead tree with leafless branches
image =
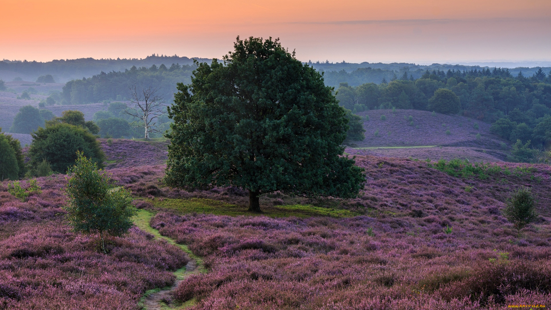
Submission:
POLYGON ((145 130, 144 138, 149 139, 150 132, 159 132, 154 126, 157 124, 159 116, 166 111, 165 99, 158 95, 159 88, 144 87, 140 88, 136 84, 130 87, 130 104, 126 104, 126 109, 122 113, 137 117, 139 121, 134 121, 134 127, 143 127, 145 130))

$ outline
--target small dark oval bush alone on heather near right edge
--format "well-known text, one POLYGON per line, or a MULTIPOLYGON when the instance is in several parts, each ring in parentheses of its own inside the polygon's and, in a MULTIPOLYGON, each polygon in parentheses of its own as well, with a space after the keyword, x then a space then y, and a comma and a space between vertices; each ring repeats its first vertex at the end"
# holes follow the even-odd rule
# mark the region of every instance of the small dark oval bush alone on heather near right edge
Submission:
POLYGON ((532 195, 532 190, 522 187, 514 191, 511 198, 507 200, 507 206, 503 210, 503 215, 520 232, 522 228, 536 219, 535 205, 536 201, 532 195))

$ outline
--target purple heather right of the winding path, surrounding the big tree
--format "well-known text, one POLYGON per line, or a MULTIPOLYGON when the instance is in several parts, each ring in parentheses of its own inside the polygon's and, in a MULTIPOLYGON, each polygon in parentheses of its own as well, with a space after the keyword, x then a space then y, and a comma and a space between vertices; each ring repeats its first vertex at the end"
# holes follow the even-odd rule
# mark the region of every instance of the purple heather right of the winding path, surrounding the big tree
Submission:
MULTIPOLYGON (((163 165, 110 170, 160 211, 150 224, 202 256, 209 272, 175 290, 191 309, 501 309, 551 303, 551 169, 497 163, 488 179, 451 177, 424 161, 358 156, 367 183, 338 207, 350 218, 224 216, 158 206, 203 197, 246 209, 231 189, 163 185, 163 165), (505 169, 507 168, 507 169, 505 169), (531 187, 538 219, 520 234, 501 210, 531 187)), ((262 206, 281 195, 265 195, 262 206)), ((305 199, 285 202, 308 204, 305 199)))

